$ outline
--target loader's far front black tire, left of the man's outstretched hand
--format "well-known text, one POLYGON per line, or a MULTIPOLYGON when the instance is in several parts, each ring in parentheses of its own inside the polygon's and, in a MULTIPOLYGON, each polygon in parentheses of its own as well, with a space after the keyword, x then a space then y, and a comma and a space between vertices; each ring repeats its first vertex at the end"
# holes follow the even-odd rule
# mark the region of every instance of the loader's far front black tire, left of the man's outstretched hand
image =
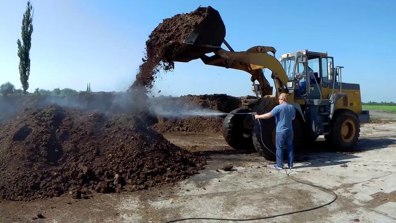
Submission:
POLYGON ((228 113, 223 121, 223 137, 234 150, 253 150, 254 148, 250 129, 244 128, 244 121, 247 115, 235 115, 235 113, 248 112, 251 111, 246 108, 236 108, 228 113))

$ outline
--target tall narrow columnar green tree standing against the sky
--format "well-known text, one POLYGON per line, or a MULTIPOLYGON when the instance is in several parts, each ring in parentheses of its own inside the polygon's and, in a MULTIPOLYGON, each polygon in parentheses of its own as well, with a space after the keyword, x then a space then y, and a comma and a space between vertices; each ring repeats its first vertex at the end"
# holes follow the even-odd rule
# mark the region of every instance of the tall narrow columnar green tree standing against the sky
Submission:
POLYGON ((22 19, 22 42, 17 40, 18 44, 18 57, 19 57, 19 75, 23 88, 23 93, 29 88, 29 75, 30 75, 30 47, 33 33, 33 7, 30 2, 27 2, 26 12, 23 13, 22 19))

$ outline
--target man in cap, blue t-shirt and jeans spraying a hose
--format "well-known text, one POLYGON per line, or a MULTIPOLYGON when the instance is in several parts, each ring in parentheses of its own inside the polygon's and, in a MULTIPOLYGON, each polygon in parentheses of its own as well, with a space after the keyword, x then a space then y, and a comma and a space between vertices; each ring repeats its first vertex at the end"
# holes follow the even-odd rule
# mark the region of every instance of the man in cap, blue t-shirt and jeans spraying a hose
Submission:
POLYGON ((288 166, 293 167, 293 128, 291 121, 295 119, 295 108, 289 104, 289 95, 282 93, 279 96, 279 105, 271 112, 255 115, 256 119, 276 118, 276 165, 275 169, 283 169, 283 146, 286 144, 288 166))

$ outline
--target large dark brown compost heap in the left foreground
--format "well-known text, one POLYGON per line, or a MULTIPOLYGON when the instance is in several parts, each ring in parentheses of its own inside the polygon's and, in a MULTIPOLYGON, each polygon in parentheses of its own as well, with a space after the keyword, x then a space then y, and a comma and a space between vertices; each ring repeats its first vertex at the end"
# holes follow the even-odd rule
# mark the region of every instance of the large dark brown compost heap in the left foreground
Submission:
POLYGON ((144 113, 25 109, 0 129, 0 199, 135 191, 202 169, 206 158, 171 144, 148 127, 155 122, 144 113))

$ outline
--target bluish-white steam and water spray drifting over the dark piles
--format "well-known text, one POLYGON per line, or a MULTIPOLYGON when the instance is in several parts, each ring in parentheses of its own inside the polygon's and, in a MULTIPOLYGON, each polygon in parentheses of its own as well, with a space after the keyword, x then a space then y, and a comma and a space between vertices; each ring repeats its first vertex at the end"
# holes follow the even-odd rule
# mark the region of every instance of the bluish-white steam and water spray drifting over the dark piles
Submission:
MULTIPOLYGON (((68 108, 79 108, 82 111, 99 111, 103 113, 129 113, 137 114, 140 112, 148 113, 152 116, 164 118, 188 118, 194 116, 216 117, 223 116, 234 109, 221 108, 216 106, 217 102, 209 105, 199 106, 192 98, 171 98, 157 97, 149 98, 145 94, 137 97, 135 92, 97 92, 90 94, 70 95, 70 96, 49 96, 49 95, 11 95, 0 96, 0 124, 6 123, 22 112, 25 108, 43 108, 49 104, 58 104, 68 108), (213 106, 214 105, 214 106, 213 106), (212 109, 210 109, 212 108, 212 109), (218 111, 217 109, 224 111, 218 111), (228 111, 229 110, 229 111, 228 111)), ((216 98, 215 98, 216 99, 216 98)), ((200 100, 215 100, 200 99, 200 100)), ((225 100, 232 101, 232 98, 222 98, 221 104, 225 100)), ((235 102, 234 102, 235 103, 235 102)), ((237 105, 235 105, 238 107, 237 105)))

